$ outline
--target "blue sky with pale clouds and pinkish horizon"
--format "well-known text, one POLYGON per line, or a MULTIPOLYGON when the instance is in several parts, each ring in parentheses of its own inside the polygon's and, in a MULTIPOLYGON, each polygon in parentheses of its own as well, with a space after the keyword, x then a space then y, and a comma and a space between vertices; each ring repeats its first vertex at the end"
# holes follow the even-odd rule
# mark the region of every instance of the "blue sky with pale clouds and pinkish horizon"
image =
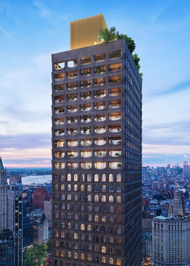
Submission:
POLYGON ((134 39, 143 72, 143 166, 190 163, 190 1, 1 0, 0 156, 51 167, 51 54, 70 21, 103 13, 134 39))

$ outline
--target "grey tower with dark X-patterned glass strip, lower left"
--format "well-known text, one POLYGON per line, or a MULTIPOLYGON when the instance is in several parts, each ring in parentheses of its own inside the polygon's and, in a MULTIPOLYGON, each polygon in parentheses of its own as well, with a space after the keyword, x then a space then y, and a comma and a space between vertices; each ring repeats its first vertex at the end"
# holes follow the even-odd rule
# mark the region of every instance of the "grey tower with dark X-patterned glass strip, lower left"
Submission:
POLYGON ((14 238, 14 266, 23 263, 23 185, 21 178, 8 185, 8 228, 14 238))

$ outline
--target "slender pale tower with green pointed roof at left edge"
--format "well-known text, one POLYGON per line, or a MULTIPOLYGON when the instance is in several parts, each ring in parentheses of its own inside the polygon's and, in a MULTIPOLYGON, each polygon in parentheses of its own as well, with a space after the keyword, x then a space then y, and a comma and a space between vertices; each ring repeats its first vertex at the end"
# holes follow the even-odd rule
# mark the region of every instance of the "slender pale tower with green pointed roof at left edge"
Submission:
POLYGON ((7 228, 7 168, 0 157, 0 232, 7 228))

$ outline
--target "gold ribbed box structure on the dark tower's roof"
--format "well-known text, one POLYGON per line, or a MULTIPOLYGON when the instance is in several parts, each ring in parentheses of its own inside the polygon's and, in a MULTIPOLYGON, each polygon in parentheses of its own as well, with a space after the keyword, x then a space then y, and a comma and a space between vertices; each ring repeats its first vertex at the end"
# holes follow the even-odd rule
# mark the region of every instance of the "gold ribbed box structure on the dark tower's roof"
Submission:
POLYGON ((107 29, 103 14, 71 21, 70 49, 94 45, 101 29, 107 29))

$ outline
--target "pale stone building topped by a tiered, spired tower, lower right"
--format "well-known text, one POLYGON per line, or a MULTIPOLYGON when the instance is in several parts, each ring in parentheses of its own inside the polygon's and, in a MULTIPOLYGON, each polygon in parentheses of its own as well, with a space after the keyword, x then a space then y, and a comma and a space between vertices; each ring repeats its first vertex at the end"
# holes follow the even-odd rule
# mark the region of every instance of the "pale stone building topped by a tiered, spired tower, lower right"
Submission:
POLYGON ((156 266, 190 265, 190 215, 178 188, 169 207, 168 217, 152 220, 152 264, 156 266))

